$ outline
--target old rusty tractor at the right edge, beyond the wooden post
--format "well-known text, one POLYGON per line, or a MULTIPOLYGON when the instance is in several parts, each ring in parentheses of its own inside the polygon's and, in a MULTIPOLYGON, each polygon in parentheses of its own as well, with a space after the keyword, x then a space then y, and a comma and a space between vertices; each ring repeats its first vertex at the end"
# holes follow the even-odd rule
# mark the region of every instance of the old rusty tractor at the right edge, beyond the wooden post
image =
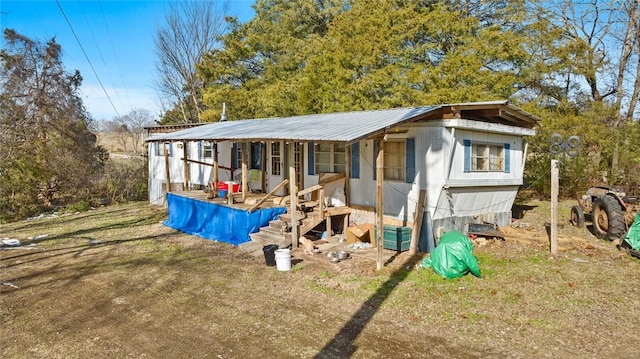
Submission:
POLYGON ((578 203, 571 207, 571 224, 582 227, 586 218, 593 224, 593 234, 609 241, 624 238, 640 208, 636 197, 613 187, 589 188, 578 203))

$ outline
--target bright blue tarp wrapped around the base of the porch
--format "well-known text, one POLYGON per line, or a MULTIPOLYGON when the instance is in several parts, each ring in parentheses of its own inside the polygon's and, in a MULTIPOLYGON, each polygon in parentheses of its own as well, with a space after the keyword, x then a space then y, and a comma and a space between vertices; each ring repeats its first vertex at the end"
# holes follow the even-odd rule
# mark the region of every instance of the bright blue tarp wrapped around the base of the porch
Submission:
POLYGON ((164 225, 206 239, 239 245, 248 242, 255 233, 278 215, 285 207, 271 207, 247 212, 240 208, 204 202, 193 198, 167 194, 169 219, 164 225))

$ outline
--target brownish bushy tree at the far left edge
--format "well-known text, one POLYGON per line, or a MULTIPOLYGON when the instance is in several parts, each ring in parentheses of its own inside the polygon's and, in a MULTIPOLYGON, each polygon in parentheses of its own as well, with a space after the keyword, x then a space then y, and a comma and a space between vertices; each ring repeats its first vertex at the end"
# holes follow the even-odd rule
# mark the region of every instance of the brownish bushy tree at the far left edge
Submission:
POLYGON ((55 40, 4 31, 0 51, 0 215, 19 215, 87 195, 105 151, 89 131, 78 95, 82 77, 67 72, 55 40))

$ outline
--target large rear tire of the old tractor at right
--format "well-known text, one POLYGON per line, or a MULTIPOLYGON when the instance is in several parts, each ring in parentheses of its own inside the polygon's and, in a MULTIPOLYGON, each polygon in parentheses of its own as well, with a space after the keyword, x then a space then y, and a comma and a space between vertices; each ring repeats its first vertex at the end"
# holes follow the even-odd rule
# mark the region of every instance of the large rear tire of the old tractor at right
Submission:
POLYGON ((620 203, 611 196, 600 196, 593 202, 593 233, 596 237, 612 241, 623 238, 627 226, 620 203))

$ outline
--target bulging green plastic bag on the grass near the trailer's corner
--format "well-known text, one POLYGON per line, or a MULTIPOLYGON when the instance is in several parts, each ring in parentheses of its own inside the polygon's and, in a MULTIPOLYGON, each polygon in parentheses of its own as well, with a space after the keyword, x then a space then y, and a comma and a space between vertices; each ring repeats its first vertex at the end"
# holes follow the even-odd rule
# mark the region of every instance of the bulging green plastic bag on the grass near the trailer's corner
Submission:
POLYGON ((433 270, 445 278, 458 278, 471 272, 480 278, 478 259, 473 255, 473 243, 459 231, 447 232, 440 238, 431 256, 422 260, 424 268, 433 270))

